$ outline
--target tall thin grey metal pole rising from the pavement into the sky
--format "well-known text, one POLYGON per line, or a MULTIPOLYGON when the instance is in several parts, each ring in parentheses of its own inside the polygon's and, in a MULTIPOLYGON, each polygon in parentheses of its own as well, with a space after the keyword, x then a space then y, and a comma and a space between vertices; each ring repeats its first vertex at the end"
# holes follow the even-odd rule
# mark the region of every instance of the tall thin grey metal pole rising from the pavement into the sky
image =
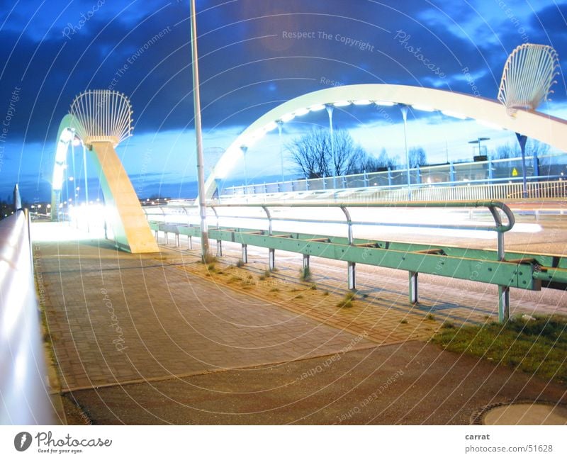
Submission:
POLYGON ((195 0, 191 0, 191 57, 193 64, 193 106, 195 111, 195 138, 197 144, 197 187, 201 215, 201 259, 208 255, 207 209, 205 201, 205 168, 203 159, 203 133, 201 130, 201 93, 199 92, 199 69, 197 52, 197 16, 195 0))

